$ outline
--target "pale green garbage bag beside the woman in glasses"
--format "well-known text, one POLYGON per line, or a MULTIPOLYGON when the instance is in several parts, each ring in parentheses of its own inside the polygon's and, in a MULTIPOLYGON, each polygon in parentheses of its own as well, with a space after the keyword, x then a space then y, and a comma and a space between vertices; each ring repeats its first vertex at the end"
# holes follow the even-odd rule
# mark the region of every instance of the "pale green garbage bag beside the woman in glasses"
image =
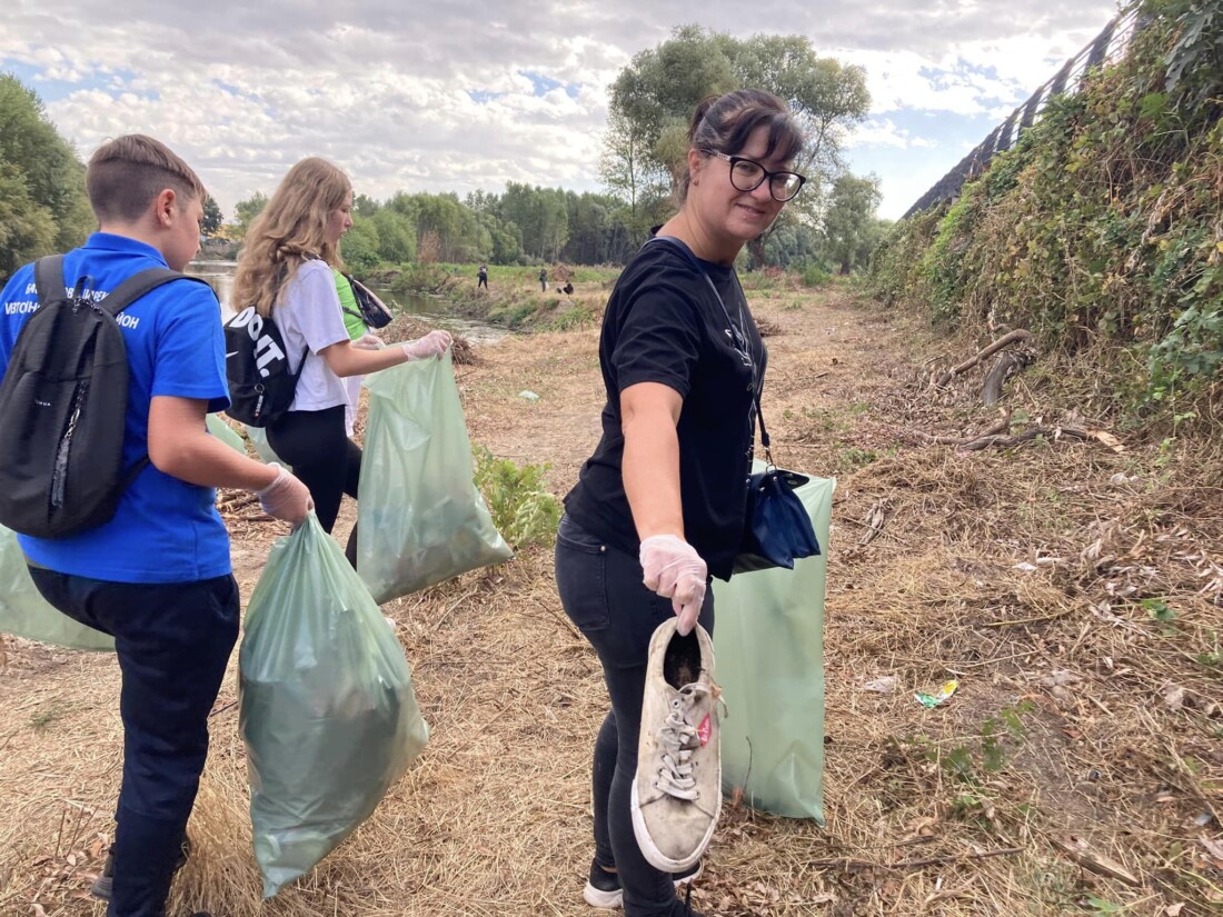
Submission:
MULTIPOLYGON (((759 465, 757 462, 757 465, 759 465)), ((757 467, 756 471, 761 471, 757 467)), ((821 555, 794 570, 713 581, 713 647, 726 703, 722 783, 753 808, 824 823, 824 580, 835 479, 795 492, 821 555)))

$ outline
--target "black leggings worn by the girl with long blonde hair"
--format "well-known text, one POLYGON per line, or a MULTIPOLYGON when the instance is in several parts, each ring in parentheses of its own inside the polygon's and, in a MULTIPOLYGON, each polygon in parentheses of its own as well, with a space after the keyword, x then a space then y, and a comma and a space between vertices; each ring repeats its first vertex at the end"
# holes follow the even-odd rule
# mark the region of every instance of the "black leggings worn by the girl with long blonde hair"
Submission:
MULTIPOLYGON (((361 481, 361 447, 345 432, 344 405, 290 411, 268 427, 268 445, 309 488, 318 521, 330 532, 340 515, 340 500, 345 494, 356 500, 361 481)), ((345 556, 357 566, 356 526, 345 556)))

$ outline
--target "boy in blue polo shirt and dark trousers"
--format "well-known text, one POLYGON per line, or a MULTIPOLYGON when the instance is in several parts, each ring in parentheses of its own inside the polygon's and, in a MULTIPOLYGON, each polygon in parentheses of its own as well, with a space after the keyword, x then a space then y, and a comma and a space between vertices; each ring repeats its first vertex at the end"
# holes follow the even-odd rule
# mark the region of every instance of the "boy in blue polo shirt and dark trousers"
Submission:
MULTIPOLYGON (((182 270, 199 249, 204 187, 164 144, 131 134, 91 158, 86 190, 99 231, 64 258, 64 284, 103 295, 146 268, 182 270)), ((33 265, 0 293, 0 372, 37 308, 33 265)), ((300 525, 306 485, 208 433, 229 405, 220 308, 175 280, 124 311, 130 366, 124 465, 149 463, 109 522, 67 538, 21 536, 38 591, 115 638, 122 674, 124 775, 108 875, 108 917, 161 917, 208 753, 208 714, 238 630, 238 591, 215 488, 245 488, 300 525)), ((102 889, 100 891, 98 889, 102 889)))

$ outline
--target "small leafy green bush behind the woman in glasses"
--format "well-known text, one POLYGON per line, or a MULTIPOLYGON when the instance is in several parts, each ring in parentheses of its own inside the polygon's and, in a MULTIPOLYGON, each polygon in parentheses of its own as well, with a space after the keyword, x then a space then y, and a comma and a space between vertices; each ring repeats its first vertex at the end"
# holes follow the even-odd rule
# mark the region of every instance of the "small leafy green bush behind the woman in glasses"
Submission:
POLYGON ((560 501, 548 493, 543 476, 550 465, 517 466, 476 446, 476 485, 484 495, 501 537, 521 550, 549 545, 560 525, 560 501))

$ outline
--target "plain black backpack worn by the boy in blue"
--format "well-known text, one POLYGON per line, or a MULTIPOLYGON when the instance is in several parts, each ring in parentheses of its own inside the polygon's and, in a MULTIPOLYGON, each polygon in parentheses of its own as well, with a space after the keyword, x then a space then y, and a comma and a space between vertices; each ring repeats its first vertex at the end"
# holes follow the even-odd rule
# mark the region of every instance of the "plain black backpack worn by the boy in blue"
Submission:
POLYGON ((124 468, 128 367, 120 313, 183 276, 149 268, 97 301, 88 279, 66 292, 62 254, 39 258, 39 307, 17 335, 0 383, 0 523, 34 538, 65 538, 114 517, 149 462, 146 455, 124 468))

